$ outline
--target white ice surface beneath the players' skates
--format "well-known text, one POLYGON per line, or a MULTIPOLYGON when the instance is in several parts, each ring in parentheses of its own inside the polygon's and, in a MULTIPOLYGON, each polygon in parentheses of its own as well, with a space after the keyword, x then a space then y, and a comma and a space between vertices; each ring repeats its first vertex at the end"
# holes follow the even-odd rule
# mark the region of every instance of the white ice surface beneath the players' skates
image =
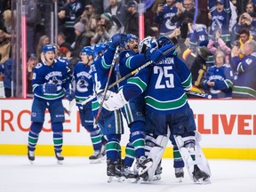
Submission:
POLYGON ((65 157, 56 164, 52 156, 0 156, 0 192, 255 192, 256 161, 209 160, 212 184, 194 184, 185 171, 180 183, 172 159, 163 160, 162 180, 151 183, 108 183, 106 162, 89 164, 88 157, 65 157))

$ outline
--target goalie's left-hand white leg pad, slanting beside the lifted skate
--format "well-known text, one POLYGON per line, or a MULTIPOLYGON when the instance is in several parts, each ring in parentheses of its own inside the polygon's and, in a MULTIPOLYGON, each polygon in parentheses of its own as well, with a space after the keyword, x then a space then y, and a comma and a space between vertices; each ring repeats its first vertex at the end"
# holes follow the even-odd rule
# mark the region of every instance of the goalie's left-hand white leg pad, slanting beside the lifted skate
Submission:
POLYGON ((169 138, 164 135, 158 135, 156 138, 156 147, 151 148, 148 158, 153 160, 152 166, 148 169, 148 180, 154 179, 157 165, 160 163, 169 138))

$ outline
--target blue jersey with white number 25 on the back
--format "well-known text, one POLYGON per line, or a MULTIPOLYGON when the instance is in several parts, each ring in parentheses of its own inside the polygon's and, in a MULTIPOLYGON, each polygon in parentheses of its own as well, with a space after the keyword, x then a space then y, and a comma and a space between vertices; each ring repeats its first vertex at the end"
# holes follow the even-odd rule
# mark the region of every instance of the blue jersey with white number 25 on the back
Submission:
POLYGON ((178 57, 166 57, 140 70, 135 77, 124 85, 126 100, 132 100, 145 91, 146 108, 157 113, 177 113, 188 107, 184 89, 191 88, 192 78, 187 65, 178 57))

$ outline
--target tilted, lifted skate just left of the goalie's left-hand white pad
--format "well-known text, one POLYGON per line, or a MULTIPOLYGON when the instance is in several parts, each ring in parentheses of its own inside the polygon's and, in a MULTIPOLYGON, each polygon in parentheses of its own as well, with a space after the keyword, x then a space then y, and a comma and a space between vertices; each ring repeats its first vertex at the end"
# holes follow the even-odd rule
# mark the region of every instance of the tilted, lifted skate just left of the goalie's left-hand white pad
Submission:
POLYGON ((137 160, 138 176, 140 183, 142 180, 148 180, 148 169, 152 166, 153 161, 151 158, 146 158, 145 156, 140 156, 140 159, 137 160))

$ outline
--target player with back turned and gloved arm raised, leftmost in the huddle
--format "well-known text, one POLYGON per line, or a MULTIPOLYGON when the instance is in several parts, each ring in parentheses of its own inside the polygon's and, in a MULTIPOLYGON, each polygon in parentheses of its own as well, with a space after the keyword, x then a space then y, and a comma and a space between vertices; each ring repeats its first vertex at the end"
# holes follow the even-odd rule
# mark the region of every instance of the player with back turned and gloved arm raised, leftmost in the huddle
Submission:
MULTIPOLYGON (((104 90, 108 82, 108 73, 111 68, 113 61, 115 62, 115 54, 118 45, 124 44, 126 41, 126 35, 116 34, 109 39, 108 51, 101 55, 97 60, 94 60, 92 69, 92 80, 94 92, 100 92, 104 90)), ((112 66, 113 68, 113 66, 112 66)), ((116 82, 115 70, 109 76, 109 84, 116 82)), ((117 91, 117 87, 111 88, 112 92, 117 91)), ((100 102, 92 100, 92 113, 93 116, 97 117, 98 110, 100 108, 100 102)), ((119 109, 115 111, 108 111, 102 108, 100 116, 98 118, 98 126, 104 136, 107 137, 107 175, 109 176, 108 181, 111 182, 113 177, 120 177, 121 172, 121 147, 120 140, 121 135, 124 133, 123 119, 119 109)))

